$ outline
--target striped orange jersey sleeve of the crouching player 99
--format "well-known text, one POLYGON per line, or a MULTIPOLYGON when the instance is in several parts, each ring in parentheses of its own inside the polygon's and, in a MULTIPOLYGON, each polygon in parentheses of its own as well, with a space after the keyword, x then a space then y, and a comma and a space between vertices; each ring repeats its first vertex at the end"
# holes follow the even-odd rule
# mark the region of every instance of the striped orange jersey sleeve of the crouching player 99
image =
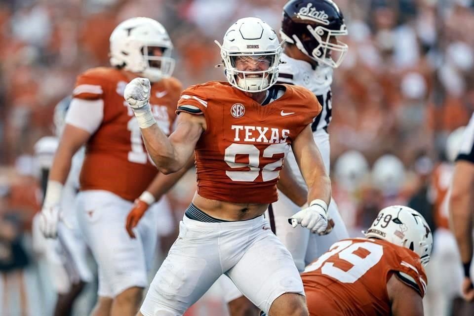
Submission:
MULTIPOLYGON (((406 249, 406 252, 409 250, 406 249)), ((398 257, 398 265, 393 269, 395 276, 406 285, 415 289, 423 298, 426 292, 428 280, 425 269, 415 253, 406 253, 398 257)))

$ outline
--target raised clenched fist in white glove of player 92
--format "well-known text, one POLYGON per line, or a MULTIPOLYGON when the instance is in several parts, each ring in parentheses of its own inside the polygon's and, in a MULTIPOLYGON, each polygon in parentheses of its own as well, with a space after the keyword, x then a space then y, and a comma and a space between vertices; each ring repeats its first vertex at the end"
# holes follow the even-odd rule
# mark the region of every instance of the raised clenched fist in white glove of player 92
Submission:
POLYGON ((148 102, 150 100, 150 90, 150 80, 135 78, 127 84, 123 91, 123 97, 135 113, 140 128, 147 128, 155 123, 155 118, 148 102))

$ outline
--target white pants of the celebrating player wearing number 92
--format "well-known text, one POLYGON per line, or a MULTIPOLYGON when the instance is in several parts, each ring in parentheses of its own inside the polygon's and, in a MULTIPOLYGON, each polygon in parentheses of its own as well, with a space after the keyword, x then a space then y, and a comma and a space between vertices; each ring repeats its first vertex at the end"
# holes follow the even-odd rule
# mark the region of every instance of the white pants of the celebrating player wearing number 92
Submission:
POLYGON ((178 239, 150 284, 140 312, 144 316, 182 315, 223 274, 266 313, 283 293, 304 295, 290 253, 263 216, 205 223, 185 215, 178 239))

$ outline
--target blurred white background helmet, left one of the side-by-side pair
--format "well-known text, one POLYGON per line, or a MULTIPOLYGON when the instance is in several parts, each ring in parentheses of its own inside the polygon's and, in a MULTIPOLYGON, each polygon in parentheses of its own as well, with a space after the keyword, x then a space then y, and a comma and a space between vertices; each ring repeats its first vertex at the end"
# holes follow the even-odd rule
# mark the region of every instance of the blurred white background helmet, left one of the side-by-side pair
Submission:
POLYGON ((360 152, 350 150, 337 158, 334 174, 343 189, 354 191, 369 174, 369 163, 360 152))

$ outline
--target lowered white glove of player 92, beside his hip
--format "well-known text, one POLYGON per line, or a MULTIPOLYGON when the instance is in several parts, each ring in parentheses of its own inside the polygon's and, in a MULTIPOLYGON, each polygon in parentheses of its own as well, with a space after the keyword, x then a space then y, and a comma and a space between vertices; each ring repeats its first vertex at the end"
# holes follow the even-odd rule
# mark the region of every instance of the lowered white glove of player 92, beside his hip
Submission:
POLYGON ((321 234, 327 227, 327 206, 323 200, 315 199, 310 206, 302 209, 288 219, 295 228, 298 224, 309 229, 312 233, 321 234))

